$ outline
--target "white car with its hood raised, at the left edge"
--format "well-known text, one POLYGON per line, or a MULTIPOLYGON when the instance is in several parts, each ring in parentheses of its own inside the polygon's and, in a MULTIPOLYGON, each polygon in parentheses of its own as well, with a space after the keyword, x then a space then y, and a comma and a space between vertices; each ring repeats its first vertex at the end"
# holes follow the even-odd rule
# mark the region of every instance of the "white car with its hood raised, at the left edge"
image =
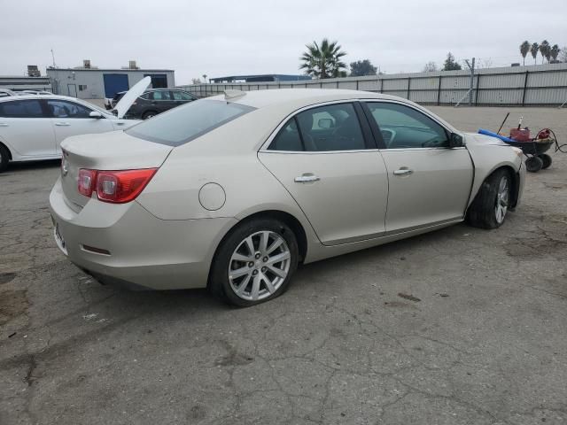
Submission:
POLYGON ((107 112, 75 97, 27 95, 0 97, 0 172, 9 162, 61 158, 60 144, 71 135, 130 128, 139 120, 123 120, 132 102, 150 84, 138 82, 107 112))

